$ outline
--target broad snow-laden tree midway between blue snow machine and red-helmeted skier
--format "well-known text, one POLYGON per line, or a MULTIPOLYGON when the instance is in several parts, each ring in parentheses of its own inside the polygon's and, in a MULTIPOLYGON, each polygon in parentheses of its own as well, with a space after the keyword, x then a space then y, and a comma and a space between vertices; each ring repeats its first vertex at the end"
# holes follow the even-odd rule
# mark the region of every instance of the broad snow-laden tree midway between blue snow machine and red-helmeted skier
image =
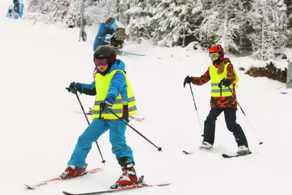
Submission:
POLYGON ((153 17, 149 21, 152 38, 159 46, 175 46, 185 43, 192 35, 190 21, 192 19, 193 0, 156 0, 153 17))

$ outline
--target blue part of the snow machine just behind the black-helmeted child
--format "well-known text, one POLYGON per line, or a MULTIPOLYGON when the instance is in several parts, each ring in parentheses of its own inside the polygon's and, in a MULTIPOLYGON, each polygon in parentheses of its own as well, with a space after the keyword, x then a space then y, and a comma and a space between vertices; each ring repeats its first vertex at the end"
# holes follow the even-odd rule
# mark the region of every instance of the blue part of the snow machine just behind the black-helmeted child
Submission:
POLYGON ((115 32, 116 27, 115 19, 113 19, 109 24, 106 24, 105 22, 99 24, 97 35, 95 36, 93 43, 93 51, 95 51, 96 48, 101 45, 101 40, 98 38, 104 37, 107 34, 112 35, 115 32))

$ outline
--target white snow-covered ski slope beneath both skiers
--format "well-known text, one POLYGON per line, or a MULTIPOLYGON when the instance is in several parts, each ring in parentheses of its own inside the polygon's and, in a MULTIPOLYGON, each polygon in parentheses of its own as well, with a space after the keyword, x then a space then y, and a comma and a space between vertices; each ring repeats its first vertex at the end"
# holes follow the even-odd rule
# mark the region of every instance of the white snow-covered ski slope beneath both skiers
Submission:
MULTIPOLYGON (((97 28, 88 29, 88 42, 78 42, 79 29, 60 29, 28 20, 4 18, 10 2, 0 2, 0 154, 1 194, 61 195, 62 191, 107 190, 120 176, 120 167, 111 154, 109 133, 98 143, 106 166, 93 143, 88 168, 103 172, 68 180, 37 190, 24 183, 47 180, 64 171, 78 136, 87 127, 76 97, 65 90, 70 82, 92 81, 92 42, 97 28), (92 30, 92 31, 91 31, 92 30)), ((158 152, 133 130, 127 130, 128 145, 134 152, 135 169, 149 184, 172 182, 168 187, 139 189, 120 194, 134 195, 246 195, 287 194, 292 173, 291 111, 292 90, 268 78, 252 78, 237 71, 237 98, 261 146, 240 109, 237 122, 257 154, 224 159, 222 153, 237 150, 224 116, 217 120, 214 151, 196 150, 201 132, 186 75, 201 76, 210 65, 199 48, 154 47, 126 43, 125 50, 145 57, 119 57, 126 63, 138 112, 145 121, 131 121, 144 136, 164 152, 158 152), (279 92, 289 92, 280 94, 279 92), (195 150, 185 156, 182 150, 195 150)), ((265 63, 249 58, 231 58, 239 66, 265 63)), ((284 62, 283 62, 284 66, 284 62)), ((210 84, 192 85, 201 124, 209 113, 210 84)), ((80 95, 84 108, 94 98, 80 95)))

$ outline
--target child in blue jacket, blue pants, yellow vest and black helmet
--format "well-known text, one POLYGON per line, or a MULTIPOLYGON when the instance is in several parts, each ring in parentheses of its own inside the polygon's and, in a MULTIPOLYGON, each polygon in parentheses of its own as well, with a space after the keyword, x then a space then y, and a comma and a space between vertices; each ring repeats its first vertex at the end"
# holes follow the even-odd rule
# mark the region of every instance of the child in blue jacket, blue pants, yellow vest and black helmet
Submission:
POLYGON ((125 63, 116 59, 116 53, 110 46, 101 46, 94 52, 94 63, 98 68, 91 84, 71 83, 72 93, 77 91, 86 95, 96 96, 92 111, 92 122, 78 138, 77 144, 61 178, 83 175, 87 164, 85 159, 91 150, 92 142, 110 129, 112 153, 115 154, 123 174, 111 188, 128 186, 138 183, 134 169, 134 158, 131 148, 126 143, 126 124, 137 108, 128 77, 125 63), (118 117, 112 113, 115 113, 118 117))

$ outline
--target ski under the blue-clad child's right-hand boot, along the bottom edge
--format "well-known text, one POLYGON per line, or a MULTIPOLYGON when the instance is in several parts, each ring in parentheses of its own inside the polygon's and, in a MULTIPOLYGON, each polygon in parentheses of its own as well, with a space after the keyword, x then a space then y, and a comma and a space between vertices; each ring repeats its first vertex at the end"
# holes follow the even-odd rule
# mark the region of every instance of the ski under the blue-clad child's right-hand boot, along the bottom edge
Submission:
POLYGON ((137 185, 128 186, 128 187, 120 187, 120 188, 117 188, 117 189, 111 189, 111 190, 106 190, 106 191, 90 192, 90 193, 83 193, 83 194, 73 194, 73 193, 69 193, 69 192, 64 192, 63 191, 63 194, 64 195, 100 195, 100 194, 120 192, 120 191, 125 191, 125 190, 133 190, 133 189, 144 188, 144 187, 167 186, 167 185, 170 185, 170 184, 171 183, 155 184, 155 185, 137 184, 137 185))

